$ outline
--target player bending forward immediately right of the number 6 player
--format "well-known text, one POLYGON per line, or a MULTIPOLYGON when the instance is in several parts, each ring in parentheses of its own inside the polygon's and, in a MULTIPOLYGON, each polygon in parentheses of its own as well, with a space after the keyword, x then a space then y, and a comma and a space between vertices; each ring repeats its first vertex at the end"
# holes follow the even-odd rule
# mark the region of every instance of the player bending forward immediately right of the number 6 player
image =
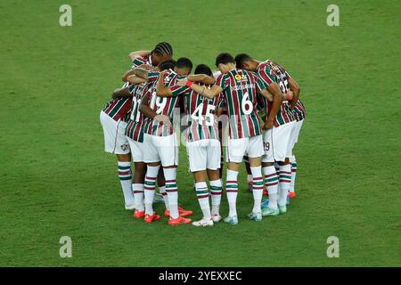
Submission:
MULTIPOLYGON (((237 67, 257 72, 267 86, 281 89, 282 94, 290 96, 290 89, 294 96, 289 102, 282 102, 280 110, 271 121, 273 127, 264 133, 265 155, 263 156, 263 170, 266 188, 269 194, 267 208, 263 208, 264 216, 277 216, 287 212, 287 196, 291 184, 291 134, 294 127, 292 108, 299 98, 299 86, 290 77, 288 72, 273 61, 257 61, 250 55, 241 53, 235 57, 237 67), (274 167, 276 161, 280 167, 279 175, 274 167), (280 190, 280 191, 279 191, 280 190)), ((266 102, 267 114, 271 119, 272 106, 266 102)))

